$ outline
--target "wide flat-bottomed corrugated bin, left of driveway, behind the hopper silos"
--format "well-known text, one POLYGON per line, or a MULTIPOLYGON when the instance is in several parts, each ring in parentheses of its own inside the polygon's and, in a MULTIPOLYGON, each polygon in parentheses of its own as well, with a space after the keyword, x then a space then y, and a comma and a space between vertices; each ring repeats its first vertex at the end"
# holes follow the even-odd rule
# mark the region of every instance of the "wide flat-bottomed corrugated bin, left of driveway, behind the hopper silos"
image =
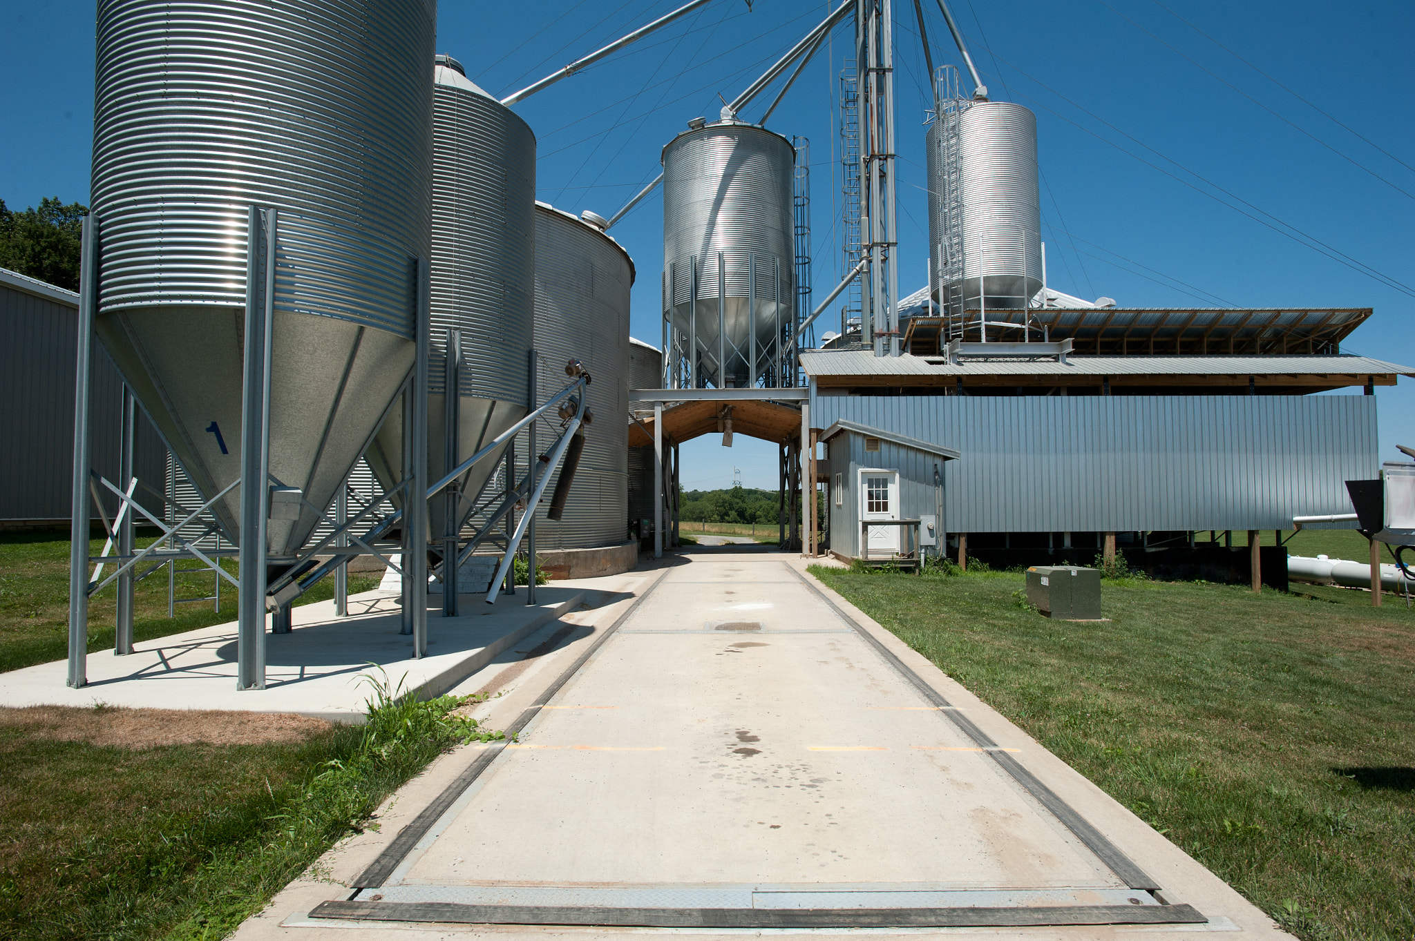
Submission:
MULTIPOLYGON (((565 363, 577 359, 593 376, 587 407, 594 414, 563 519, 546 519, 552 490, 541 502, 536 548, 616 545, 624 541, 628 520, 625 418, 634 263, 603 230, 543 202, 535 206, 535 243, 536 389, 545 400, 565 387, 565 363)), ((536 424, 536 445, 543 452, 559 422, 536 424)))

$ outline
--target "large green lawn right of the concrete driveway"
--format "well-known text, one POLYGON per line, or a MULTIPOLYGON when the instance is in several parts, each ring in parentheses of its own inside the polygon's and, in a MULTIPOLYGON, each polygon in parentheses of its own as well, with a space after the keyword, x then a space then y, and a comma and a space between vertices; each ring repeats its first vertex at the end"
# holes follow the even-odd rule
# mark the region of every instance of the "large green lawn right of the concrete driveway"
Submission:
POLYGON ((812 572, 1299 937, 1415 937, 1404 602, 1126 579, 1067 623, 1017 574, 812 572))

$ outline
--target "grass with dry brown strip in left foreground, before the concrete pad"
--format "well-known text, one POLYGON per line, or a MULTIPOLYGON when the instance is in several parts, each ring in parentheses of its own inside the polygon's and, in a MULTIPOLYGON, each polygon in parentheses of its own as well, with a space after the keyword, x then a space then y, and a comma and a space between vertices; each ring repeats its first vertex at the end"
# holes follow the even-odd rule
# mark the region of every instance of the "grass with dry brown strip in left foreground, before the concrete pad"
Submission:
POLYGON ((255 714, 0 709, 0 938, 226 937, 439 753, 499 738, 449 715, 461 699, 371 698, 368 725, 283 736, 255 714))

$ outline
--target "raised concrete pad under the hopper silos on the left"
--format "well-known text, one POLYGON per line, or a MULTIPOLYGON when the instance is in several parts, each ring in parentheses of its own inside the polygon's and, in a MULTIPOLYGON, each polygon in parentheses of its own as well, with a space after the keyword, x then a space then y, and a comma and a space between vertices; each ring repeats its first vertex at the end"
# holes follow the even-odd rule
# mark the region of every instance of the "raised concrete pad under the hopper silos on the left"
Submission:
POLYGON ((399 599, 372 591, 350 596, 350 616, 334 602, 293 609, 294 630, 266 636, 266 688, 236 690, 236 625, 228 622, 136 644, 125 657, 88 656, 89 684, 65 685, 67 663, 0 674, 0 705, 76 705, 106 702, 163 709, 243 709, 299 712, 333 721, 362 721, 379 664, 396 687, 441 695, 492 663, 508 647, 580 605, 579 582, 542 585, 535 608, 525 588, 487 605, 483 595, 461 598, 460 617, 429 610, 427 656, 412 657, 412 637, 400 634, 399 599))

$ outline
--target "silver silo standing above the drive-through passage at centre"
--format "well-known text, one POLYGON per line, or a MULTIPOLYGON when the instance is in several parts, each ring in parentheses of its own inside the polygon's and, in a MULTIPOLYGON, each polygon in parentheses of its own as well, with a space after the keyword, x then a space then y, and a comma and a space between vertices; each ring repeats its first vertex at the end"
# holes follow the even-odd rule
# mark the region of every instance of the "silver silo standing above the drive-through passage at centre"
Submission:
POLYGON ((662 162, 664 309, 674 331, 696 342, 699 386, 751 386, 775 374, 774 350, 795 322, 795 150, 780 134, 723 120, 689 127, 664 147, 662 162))

